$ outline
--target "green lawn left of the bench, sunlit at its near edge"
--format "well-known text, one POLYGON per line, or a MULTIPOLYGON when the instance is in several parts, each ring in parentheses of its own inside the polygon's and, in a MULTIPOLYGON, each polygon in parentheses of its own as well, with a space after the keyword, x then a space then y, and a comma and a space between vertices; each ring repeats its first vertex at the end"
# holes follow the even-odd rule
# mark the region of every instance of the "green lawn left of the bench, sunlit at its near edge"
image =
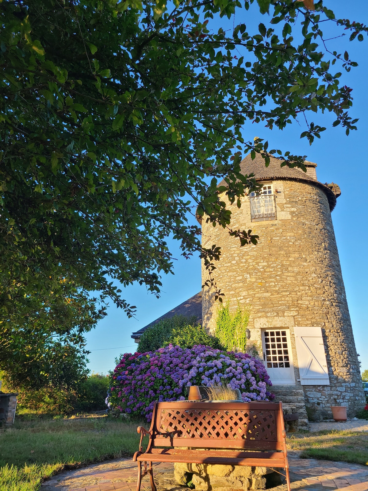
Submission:
POLYGON ((0 430, 0 491, 35 491, 65 468, 131 457, 138 450, 137 424, 106 416, 21 416, 0 430))

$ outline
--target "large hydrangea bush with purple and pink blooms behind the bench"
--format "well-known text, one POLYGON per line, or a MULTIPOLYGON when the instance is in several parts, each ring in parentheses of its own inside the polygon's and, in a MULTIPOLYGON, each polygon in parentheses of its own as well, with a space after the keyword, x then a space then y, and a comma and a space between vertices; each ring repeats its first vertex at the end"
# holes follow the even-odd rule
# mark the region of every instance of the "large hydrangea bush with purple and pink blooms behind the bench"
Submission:
POLYGON ((244 402, 273 399, 272 383, 263 363, 246 353, 225 352, 197 345, 169 345, 154 352, 126 353, 110 376, 114 409, 135 418, 152 419, 155 401, 184 400, 185 385, 221 383, 239 389, 244 402))

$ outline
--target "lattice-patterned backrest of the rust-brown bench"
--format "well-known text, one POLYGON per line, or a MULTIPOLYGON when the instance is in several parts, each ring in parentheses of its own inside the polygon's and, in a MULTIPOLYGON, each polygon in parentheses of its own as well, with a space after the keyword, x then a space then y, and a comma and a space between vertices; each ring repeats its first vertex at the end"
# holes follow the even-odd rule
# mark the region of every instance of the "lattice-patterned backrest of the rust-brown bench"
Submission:
POLYGON ((151 429, 156 447, 282 450, 275 403, 158 403, 151 429))

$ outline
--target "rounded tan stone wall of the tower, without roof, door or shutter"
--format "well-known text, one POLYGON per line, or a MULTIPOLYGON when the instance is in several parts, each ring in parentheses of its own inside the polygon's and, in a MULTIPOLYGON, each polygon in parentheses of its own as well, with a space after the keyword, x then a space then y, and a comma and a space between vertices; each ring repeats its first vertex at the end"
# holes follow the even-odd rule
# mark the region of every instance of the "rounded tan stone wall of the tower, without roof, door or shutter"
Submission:
MULTIPOLYGON (((300 376, 293 327, 322 328, 330 385, 304 385, 306 405, 322 415, 331 413, 330 406, 344 405, 353 415, 364 405, 364 392, 327 196, 313 183, 272 184, 276 220, 252 222, 246 196, 240 209, 229 205, 231 227, 252 229, 260 236, 257 246, 240 247, 226 229, 212 227, 205 218, 202 244, 221 246, 214 277, 231 309, 238 302, 251 309, 251 350, 262 357, 262 328, 289 327, 296 381, 300 376)), ((207 278, 202 265, 202 283, 207 278)), ((213 291, 205 287, 202 318, 210 332, 217 305, 213 291)))

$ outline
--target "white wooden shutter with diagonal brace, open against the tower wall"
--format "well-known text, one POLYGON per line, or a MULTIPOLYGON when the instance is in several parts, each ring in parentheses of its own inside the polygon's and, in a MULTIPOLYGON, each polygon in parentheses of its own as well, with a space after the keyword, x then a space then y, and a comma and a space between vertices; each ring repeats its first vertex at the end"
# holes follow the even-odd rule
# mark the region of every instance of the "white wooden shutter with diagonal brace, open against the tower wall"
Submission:
POLYGON ((330 385, 320 327, 294 327, 300 383, 330 385))

